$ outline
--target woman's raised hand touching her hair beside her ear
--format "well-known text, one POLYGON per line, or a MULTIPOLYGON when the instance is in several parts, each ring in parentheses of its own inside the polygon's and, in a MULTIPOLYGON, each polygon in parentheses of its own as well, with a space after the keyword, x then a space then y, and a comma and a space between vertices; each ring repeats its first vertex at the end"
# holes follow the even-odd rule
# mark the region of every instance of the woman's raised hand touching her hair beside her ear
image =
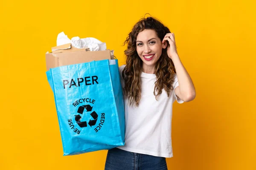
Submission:
POLYGON ((170 46, 167 48, 168 57, 172 59, 173 57, 178 56, 174 33, 167 33, 164 36, 162 43, 165 41, 168 41, 170 44, 170 46))

